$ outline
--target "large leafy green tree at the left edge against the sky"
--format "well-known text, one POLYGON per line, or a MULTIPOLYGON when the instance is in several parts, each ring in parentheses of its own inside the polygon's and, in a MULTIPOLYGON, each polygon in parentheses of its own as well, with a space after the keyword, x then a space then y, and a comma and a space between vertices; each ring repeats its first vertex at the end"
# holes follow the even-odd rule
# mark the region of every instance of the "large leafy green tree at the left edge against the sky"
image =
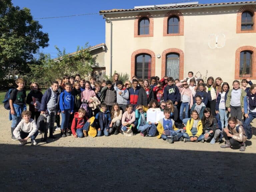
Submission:
POLYGON ((0 78, 10 70, 20 74, 29 71, 28 62, 39 47, 48 46, 48 33, 28 8, 14 7, 11 0, 0 0, 0 78))

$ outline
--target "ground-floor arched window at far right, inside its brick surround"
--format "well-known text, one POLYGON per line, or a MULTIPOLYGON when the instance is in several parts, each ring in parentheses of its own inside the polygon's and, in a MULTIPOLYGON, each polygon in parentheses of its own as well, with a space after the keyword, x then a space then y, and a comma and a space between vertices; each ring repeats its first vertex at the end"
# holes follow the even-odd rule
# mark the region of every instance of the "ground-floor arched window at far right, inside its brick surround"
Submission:
POLYGON ((241 51, 240 52, 240 68, 239 75, 243 76, 245 74, 251 75, 252 73, 252 52, 241 51))

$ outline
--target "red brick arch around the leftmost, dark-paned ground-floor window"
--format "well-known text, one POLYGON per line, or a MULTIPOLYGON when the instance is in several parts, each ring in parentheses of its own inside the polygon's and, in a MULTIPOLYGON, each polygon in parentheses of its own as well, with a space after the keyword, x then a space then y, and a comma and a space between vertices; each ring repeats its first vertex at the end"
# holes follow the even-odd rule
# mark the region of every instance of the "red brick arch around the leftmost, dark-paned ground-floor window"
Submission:
POLYGON ((151 77, 155 76, 156 56, 155 53, 149 49, 138 49, 131 55, 131 78, 135 75, 135 59, 137 55, 148 54, 151 56, 151 77))

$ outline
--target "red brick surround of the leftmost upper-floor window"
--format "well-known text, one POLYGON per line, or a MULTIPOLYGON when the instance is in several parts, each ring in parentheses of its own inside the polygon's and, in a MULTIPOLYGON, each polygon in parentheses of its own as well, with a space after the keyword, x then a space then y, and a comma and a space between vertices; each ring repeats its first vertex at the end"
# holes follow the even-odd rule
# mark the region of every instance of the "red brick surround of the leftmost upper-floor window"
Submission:
POLYGON ((154 19, 153 16, 150 13, 143 12, 139 13, 134 20, 134 37, 153 37, 154 35, 154 19), (149 34, 143 34, 139 35, 139 21, 142 18, 148 18, 149 19, 149 34))

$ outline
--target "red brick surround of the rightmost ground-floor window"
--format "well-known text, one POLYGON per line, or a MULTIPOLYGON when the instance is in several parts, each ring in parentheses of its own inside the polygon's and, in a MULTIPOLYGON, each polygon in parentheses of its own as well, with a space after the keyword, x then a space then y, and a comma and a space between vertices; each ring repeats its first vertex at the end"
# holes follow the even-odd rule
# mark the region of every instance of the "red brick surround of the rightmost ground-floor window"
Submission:
POLYGON ((235 53, 235 79, 243 79, 243 78, 246 78, 246 77, 249 77, 251 79, 256 79, 256 55, 255 54, 256 54, 256 47, 253 47, 253 46, 242 46, 242 47, 239 47, 236 50, 236 53, 235 53), (252 52, 252 63, 251 63, 252 71, 251 71, 251 75, 245 75, 243 77, 239 76, 240 52, 241 51, 250 51, 250 52, 252 52))

